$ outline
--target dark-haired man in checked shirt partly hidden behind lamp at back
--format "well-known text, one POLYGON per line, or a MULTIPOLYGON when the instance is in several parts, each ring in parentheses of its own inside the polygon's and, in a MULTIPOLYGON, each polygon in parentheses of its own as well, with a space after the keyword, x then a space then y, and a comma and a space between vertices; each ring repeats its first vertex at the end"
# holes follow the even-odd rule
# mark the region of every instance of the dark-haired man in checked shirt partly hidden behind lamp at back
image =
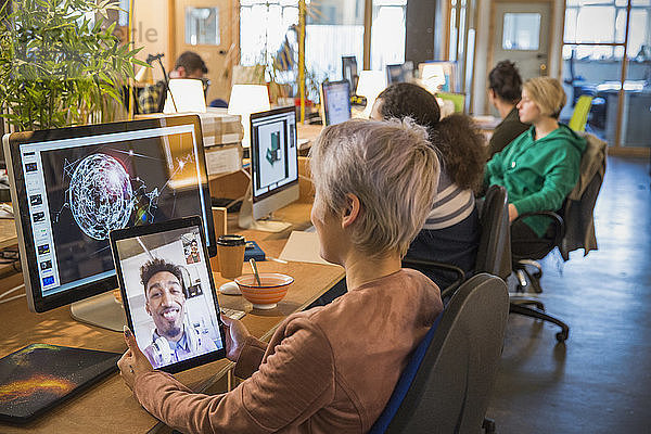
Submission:
MULTIPOLYGON (((169 78, 195 78, 203 80, 208 73, 205 62, 199 54, 186 51, 178 56, 169 78)), ((153 86, 145 87, 138 97, 140 113, 161 113, 165 103, 165 81, 159 80, 153 86)))

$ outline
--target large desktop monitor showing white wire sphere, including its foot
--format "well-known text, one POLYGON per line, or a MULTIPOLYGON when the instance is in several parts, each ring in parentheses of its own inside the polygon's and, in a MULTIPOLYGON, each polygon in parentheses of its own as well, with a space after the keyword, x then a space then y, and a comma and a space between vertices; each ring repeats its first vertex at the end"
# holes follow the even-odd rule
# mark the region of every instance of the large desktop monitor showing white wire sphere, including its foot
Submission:
POLYGON ((199 215, 216 254, 199 116, 15 132, 3 143, 30 310, 85 301, 74 317, 122 330, 113 294, 93 297, 117 288, 113 229, 199 215))

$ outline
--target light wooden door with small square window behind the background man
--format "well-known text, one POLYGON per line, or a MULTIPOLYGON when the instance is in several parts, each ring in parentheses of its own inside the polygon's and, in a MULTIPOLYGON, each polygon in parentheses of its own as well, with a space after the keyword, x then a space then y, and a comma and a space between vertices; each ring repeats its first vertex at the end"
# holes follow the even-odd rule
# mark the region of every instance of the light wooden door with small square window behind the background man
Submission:
POLYGON ((230 0, 176 0, 175 59, 187 50, 202 56, 210 80, 206 103, 216 98, 228 101, 230 94, 231 56, 227 54, 234 49, 233 4, 230 0))

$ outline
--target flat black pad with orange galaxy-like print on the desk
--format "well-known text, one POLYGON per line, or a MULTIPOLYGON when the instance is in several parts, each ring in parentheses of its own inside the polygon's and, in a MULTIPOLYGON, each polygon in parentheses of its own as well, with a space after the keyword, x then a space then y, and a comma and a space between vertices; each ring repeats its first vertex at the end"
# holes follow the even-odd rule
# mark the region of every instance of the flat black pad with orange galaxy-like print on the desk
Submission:
POLYGON ((122 355, 33 344, 0 359, 0 420, 25 423, 117 370, 122 355))

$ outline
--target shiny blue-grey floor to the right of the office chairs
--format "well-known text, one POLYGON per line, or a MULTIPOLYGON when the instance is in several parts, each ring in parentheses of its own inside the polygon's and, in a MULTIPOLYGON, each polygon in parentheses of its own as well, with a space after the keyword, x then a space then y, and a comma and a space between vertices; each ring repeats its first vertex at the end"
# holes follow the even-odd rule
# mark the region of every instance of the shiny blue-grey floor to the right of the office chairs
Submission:
POLYGON ((597 202, 599 251, 544 260, 547 310, 511 315, 488 409, 498 433, 651 432, 651 191, 648 159, 609 157, 597 202), (561 272, 562 270, 562 272, 561 272))

